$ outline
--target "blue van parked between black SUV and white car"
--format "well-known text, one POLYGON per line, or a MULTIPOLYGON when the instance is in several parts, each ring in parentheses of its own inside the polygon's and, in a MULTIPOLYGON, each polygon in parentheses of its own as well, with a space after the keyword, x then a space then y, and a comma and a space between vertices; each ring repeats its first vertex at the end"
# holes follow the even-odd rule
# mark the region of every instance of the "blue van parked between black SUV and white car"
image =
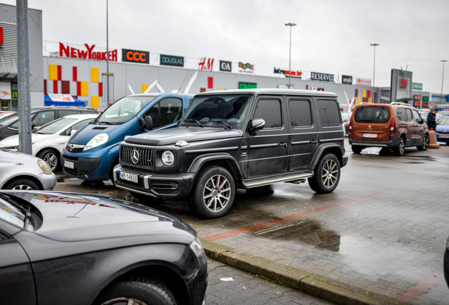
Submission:
POLYGON ((119 143, 125 136, 148 132, 146 116, 151 116, 152 130, 176 126, 192 98, 178 93, 147 93, 114 102, 68 139, 61 154, 64 173, 90 181, 112 178, 112 169, 119 163, 119 143))

